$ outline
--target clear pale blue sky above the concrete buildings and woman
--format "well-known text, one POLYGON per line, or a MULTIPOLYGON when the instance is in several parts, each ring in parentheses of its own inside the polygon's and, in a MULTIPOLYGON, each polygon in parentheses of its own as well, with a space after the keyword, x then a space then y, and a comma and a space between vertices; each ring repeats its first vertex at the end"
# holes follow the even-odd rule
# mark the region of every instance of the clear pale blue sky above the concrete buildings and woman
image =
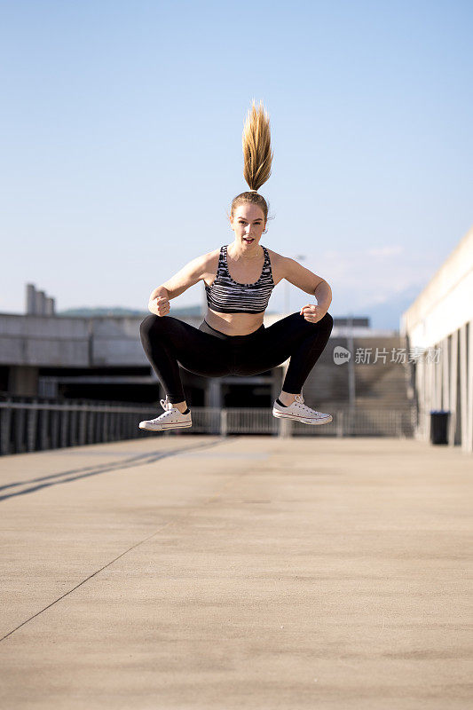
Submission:
MULTIPOLYGON (((471 2, 0 8, 0 312, 24 311, 28 281, 58 310, 146 309, 233 241, 252 99, 274 150, 262 243, 304 255, 332 315, 393 327, 473 224, 471 2)), ((291 288, 292 310, 310 302, 291 288)))

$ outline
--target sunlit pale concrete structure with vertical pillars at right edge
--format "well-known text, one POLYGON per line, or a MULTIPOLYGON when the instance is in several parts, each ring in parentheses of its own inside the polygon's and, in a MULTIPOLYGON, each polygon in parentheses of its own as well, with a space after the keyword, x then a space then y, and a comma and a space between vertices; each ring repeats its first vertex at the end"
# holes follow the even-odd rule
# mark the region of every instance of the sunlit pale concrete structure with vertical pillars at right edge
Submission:
POLYGON ((450 412, 448 443, 473 452, 473 228, 402 314, 413 354, 415 437, 430 438, 430 411, 450 412))

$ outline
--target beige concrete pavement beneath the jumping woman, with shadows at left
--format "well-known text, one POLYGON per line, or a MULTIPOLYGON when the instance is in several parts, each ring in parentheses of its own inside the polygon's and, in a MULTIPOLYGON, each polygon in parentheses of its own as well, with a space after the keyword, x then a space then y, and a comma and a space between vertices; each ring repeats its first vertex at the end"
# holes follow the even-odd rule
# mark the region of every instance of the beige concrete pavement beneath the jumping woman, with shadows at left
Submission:
POLYGON ((0 459, 3 706, 472 706, 473 459, 148 438, 0 459))

